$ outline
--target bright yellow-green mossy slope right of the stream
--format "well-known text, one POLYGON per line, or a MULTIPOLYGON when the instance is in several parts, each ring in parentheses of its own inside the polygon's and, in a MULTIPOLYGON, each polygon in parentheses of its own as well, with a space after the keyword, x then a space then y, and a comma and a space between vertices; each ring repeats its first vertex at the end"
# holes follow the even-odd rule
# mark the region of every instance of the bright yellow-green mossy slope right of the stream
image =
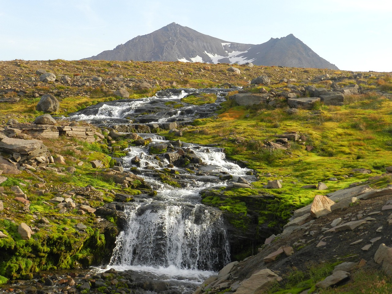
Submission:
MULTIPOLYGON (((194 134, 190 129, 181 140, 225 147, 231 159, 245 161, 259 173, 260 178, 252 183, 252 194, 257 191, 263 201, 256 202, 256 206, 252 197, 243 195, 247 192, 244 189, 204 195, 203 203, 236 214, 232 223, 238 227, 246 228, 246 211, 252 207, 258 212, 260 225, 279 230, 294 209, 307 205, 316 194, 364 182, 392 165, 392 101, 379 94, 348 96, 345 105, 319 104, 316 110, 299 110, 297 114, 288 114, 287 106, 243 107, 230 100, 222 106, 218 118, 197 120, 194 125, 199 132, 194 134), (274 134, 291 131, 303 135, 306 141, 289 142, 287 150, 263 147, 274 134), (305 145, 313 150, 306 151, 305 145), (353 172, 358 168, 372 173, 353 172), (268 172, 272 176, 266 176, 268 172), (331 177, 338 181, 328 181, 331 177), (275 179, 283 180, 281 189, 263 189, 268 180, 275 179), (301 188, 321 181, 327 184, 327 190, 301 188)), ((167 132, 162 134, 174 139, 167 132)), ((385 187, 388 183, 390 178, 386 177, 371 184, 385 187)))

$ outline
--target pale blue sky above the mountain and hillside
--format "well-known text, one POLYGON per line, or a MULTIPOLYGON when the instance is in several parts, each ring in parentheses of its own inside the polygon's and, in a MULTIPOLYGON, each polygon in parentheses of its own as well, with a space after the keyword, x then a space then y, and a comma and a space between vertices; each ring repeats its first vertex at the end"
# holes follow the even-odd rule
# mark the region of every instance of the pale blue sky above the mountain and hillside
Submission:
POLYGON ((390 0, 0 0, 0 60, 79 60, 176 22, 228 42, 294 34, 342 70, 392 71, 390 0))

